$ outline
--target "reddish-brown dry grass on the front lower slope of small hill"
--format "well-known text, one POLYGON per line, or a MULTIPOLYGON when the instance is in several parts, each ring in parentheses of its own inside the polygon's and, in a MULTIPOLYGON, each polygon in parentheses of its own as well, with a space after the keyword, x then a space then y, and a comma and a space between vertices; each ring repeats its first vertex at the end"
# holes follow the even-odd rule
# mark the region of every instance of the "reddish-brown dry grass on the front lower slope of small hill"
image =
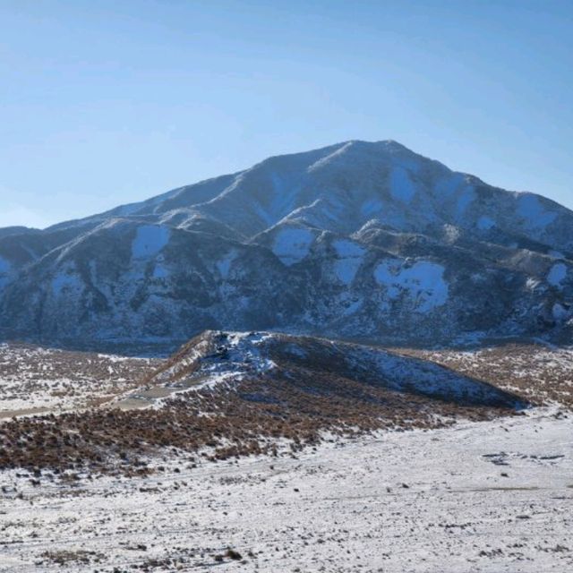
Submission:
POLYGON ((142 458, 169 449, 221 460, 267 453, 279 441, 292 452, 324 431, 353 436, 388 429, 435 428, 457 418, 509 415, 507 407, 459 406, 323 372, 309 380, 252 378, 232 388, 192 390, 160 409, 19 418, 0 425, 0 468, 146 474, 142 458))

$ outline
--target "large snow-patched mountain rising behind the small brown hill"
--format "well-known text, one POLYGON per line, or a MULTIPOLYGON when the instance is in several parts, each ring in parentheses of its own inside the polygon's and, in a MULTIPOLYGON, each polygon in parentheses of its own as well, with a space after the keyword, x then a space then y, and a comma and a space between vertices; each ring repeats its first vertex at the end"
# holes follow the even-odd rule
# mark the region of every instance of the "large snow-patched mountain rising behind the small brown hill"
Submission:
POLYGON ((573 212, 348 141, 42 231, 0 230, 0 336, 174 347, 203 329, 385 344, 570 338, 573 212))

